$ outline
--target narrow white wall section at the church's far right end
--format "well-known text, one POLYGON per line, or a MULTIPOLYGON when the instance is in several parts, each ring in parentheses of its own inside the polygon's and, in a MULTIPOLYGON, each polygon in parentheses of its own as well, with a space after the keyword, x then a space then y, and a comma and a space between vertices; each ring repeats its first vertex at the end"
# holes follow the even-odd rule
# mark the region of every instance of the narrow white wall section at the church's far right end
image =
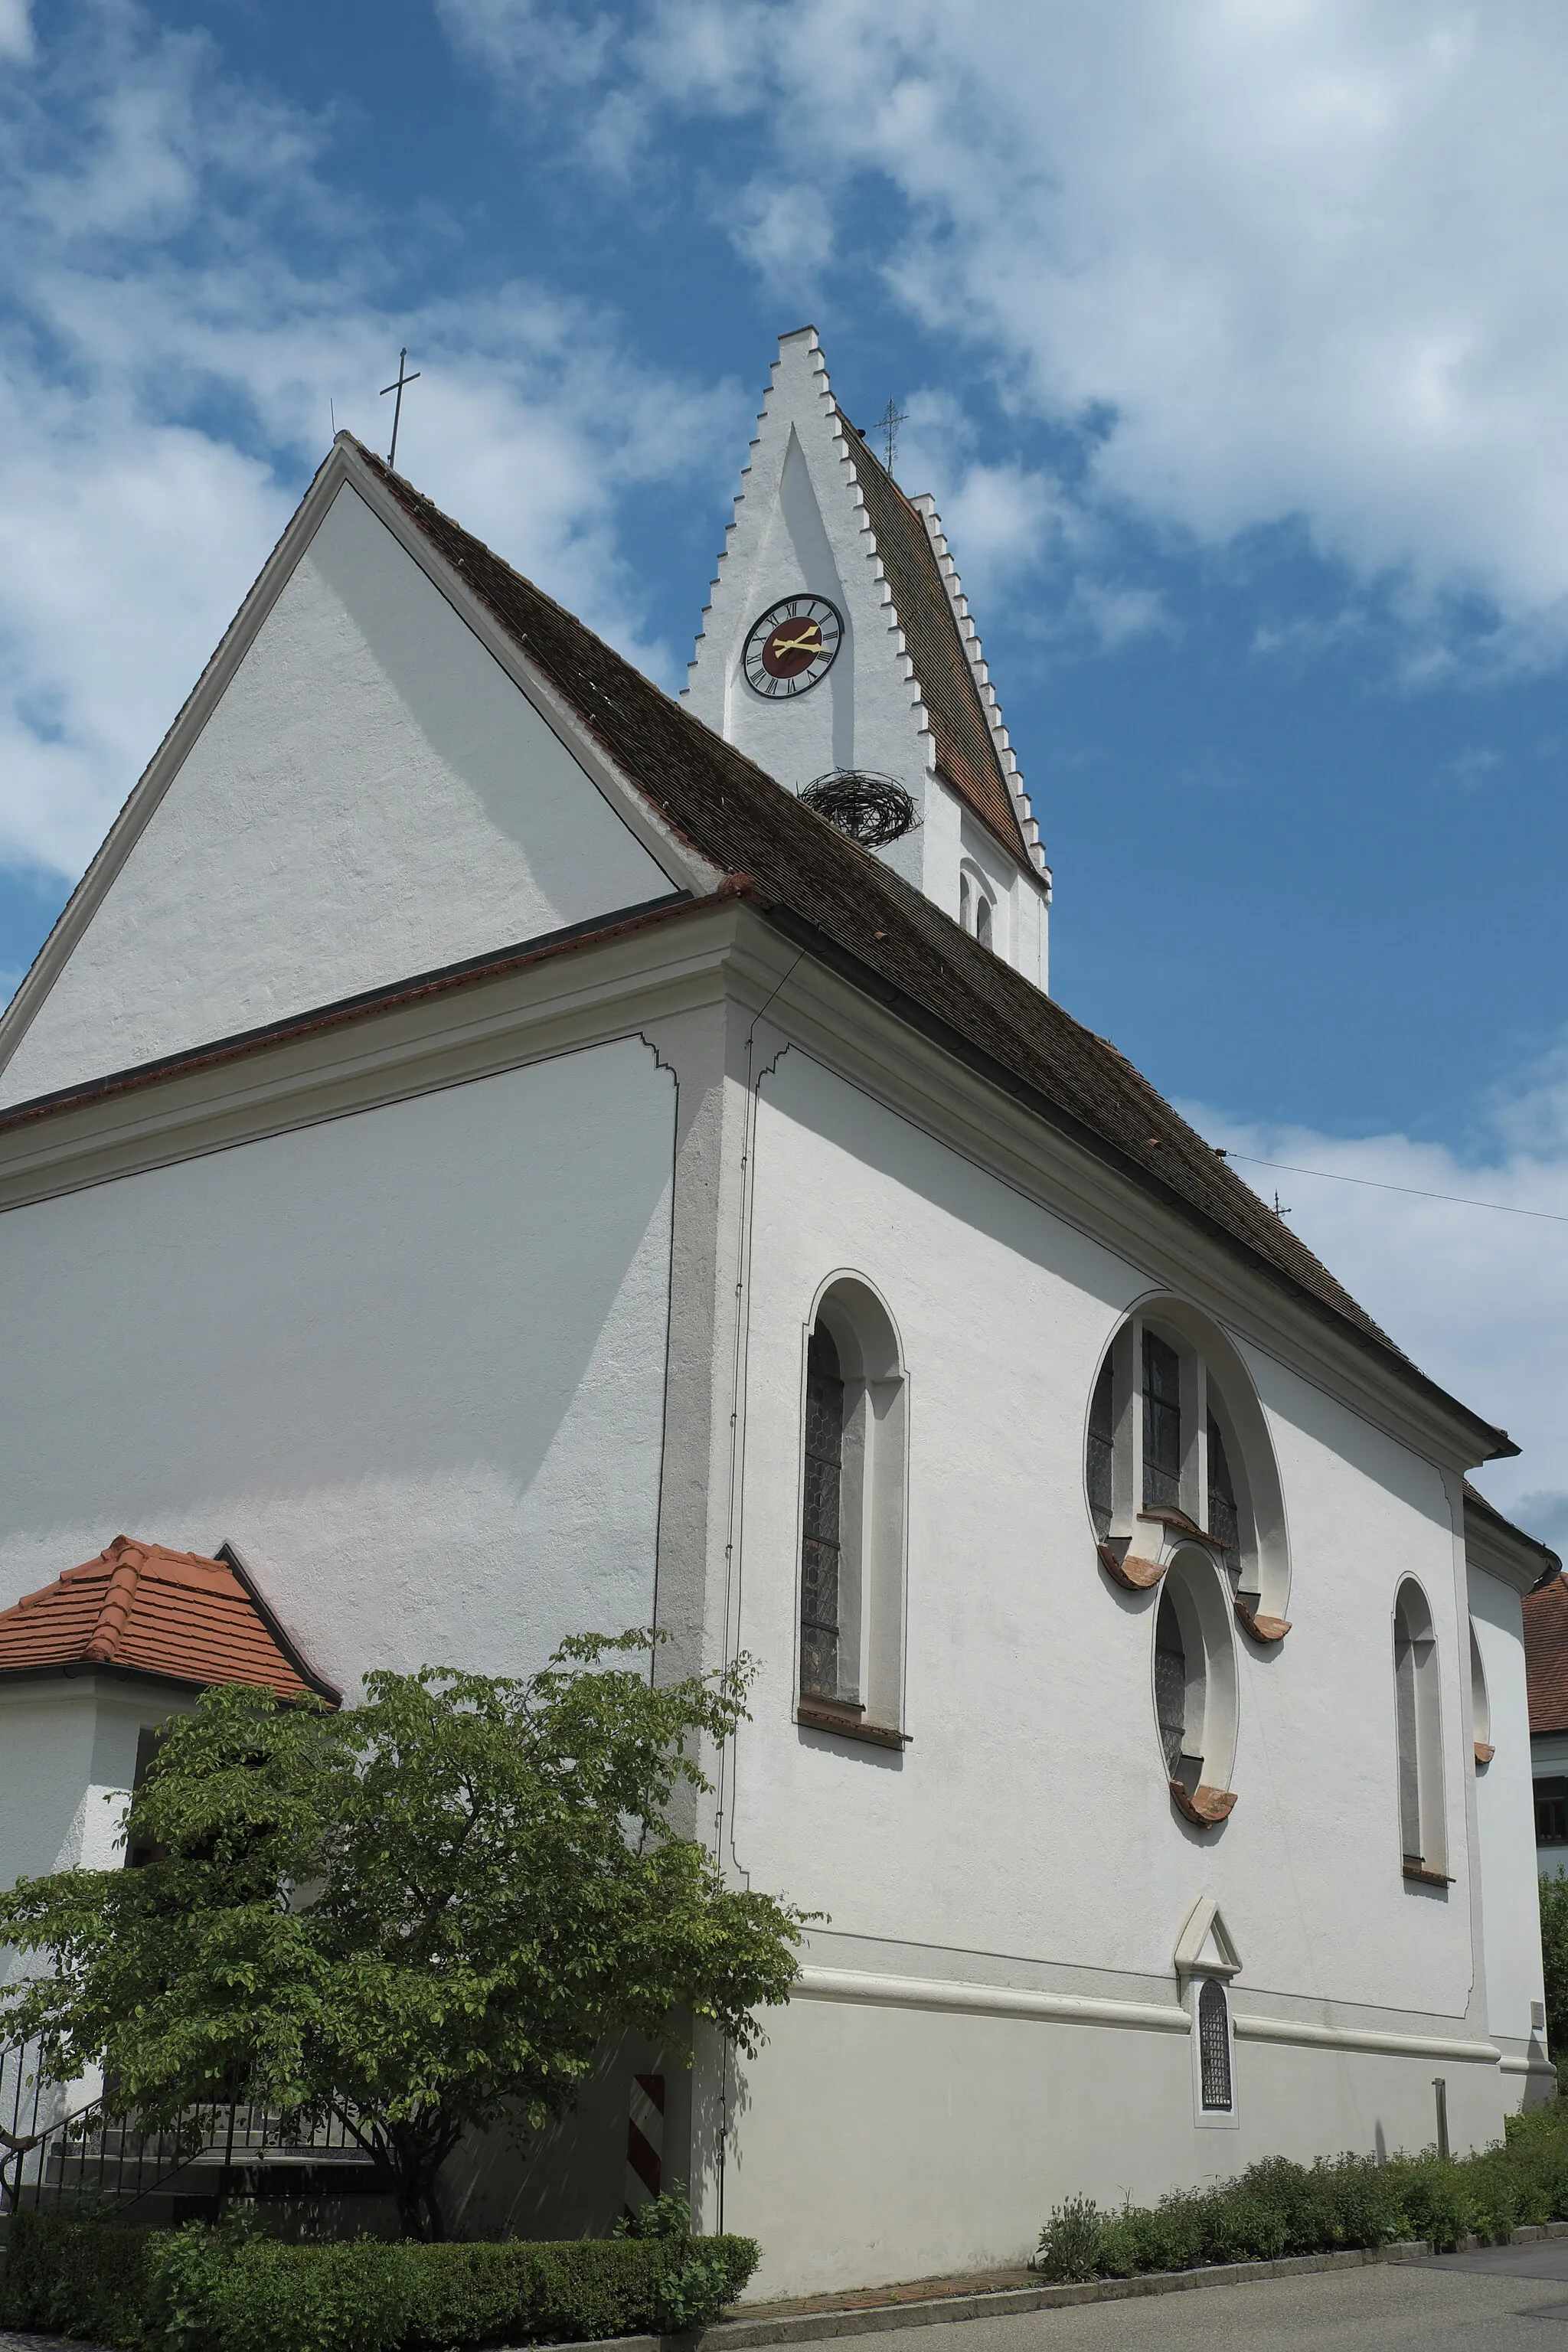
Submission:
MULTIPOLYGON (((1486 2013, 1493 2034, 1526 2044, 1530 2009, 1544 2002, 1530 1783, 1530 1703, 1519 1595, 1469 1571, 1469 1618, 1481 1649, 1490 1764, 1476 1771, 1486 1919, 1486 2013)), ((1537 2034, 1544 2046, 1544 2034, 1537 2034)))

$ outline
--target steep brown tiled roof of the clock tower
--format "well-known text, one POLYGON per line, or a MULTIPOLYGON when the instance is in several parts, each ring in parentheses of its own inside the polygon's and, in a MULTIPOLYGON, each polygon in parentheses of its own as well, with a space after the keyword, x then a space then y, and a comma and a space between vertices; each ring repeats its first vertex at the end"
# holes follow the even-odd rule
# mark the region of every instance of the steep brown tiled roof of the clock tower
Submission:
POLYGON ((926 522, 842 409, 839 416, 851 435, 872 539, 919 680, 938 771, 1018 863, 1030 866, 1018 804, 1001 774, 990 720, 959 637, 959 623, 952 616, 952 600, 938 572, 926 522))

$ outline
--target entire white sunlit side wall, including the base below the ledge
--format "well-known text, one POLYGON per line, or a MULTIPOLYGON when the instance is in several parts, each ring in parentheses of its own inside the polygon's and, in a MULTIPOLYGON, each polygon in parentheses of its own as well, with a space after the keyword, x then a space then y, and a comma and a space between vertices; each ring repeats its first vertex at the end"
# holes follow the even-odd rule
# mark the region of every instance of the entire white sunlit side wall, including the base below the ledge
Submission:
MULTIPOLYGON (((1443 1475, 1244 1350, 1284 1482, 1293 1630, 1276 1649, 1237 1632, 1239 1802, 1218 1835, 1190 1828, 1154 1729, 1157 1595, 1124 1595, 1100 1573, 1084 1498, 1093 1374, 1147 1289, 799 1049, 764 1080, 738 1625, 762 1670, 736 1750, 733 1863, 830 1915, 811 1936, 816 1966, 1171 2004, 1175 1938, 1208 1893, 1241 1952, 1232 2011, 1255 2002, 1319 2032, 1483 2042, 1467 1630, 1443 1475), (823 1282, 844 1270, 886 1301, 907 1362, 903 1755, 792 1722, 802 1338, 823 1282), (1401 1576, 1420 1578, 1441 1644, 1446 1891, 1401 1872, 1401 1576)), ((837 2284, 1016 2258, 1023 2206, 1037 2225, 1046 2187, 1114 2201, 1274 2150, 1422 2145, 1436 2072, 1460 2145, 1495 2136, 1502 2117, 1495 2063, 1253 2042, 1239 2044, 1234 2129, 1213 2133, 1194 2129, 1190 2044, 1173 2034, 954 2020, 919 2004, 898 2018, 827 2009, 802 2002, 778 2023, 748 2074, 726 2176, 731 2225, 788 2246, 792 2286, 830 2284, 816 2249, 839 2239, 837 2284), (835 2169, 806 2161, 802 2100, 827 2103, 813 2129, 835 2145, 839 2129, 851 2145, 865 2129, 917 2150, 893 2159, 886 2197, 877 2183, 853 2223, 835 2218, 835 2169), (987 2164, 997 2178, 980 2194, 987 2164), (773 2197, 788 2220, 764 2230, 773 2197), (870 2270, 851 2251, 867 2213, 886 2251, 870 2270)), ((783 2277, 773 2267, 759 2284, 783 2277)))

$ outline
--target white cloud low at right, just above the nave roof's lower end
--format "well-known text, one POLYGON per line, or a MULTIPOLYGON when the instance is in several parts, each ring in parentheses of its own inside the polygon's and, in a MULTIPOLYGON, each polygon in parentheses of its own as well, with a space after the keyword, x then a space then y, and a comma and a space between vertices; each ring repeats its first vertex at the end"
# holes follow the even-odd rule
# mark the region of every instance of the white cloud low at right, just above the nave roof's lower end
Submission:
POLYGON ((1267 1202, 1279 1188, 1302 1242, 1422 1371, 1507 1428, 1521 1458, 1474 1472, 1476 1484, 1530 1534, 1568 1548, 1568 1047, 1483 1105, 1474 1155, 1185 1110, 1211 1143, 1286 1164, 1234 1160, 1267 1202), (1347 1176, 1359 1181, 1333 1181, 1347 1176), (1434 1192, 1544 1214, 1422 1197, 1434 1192))

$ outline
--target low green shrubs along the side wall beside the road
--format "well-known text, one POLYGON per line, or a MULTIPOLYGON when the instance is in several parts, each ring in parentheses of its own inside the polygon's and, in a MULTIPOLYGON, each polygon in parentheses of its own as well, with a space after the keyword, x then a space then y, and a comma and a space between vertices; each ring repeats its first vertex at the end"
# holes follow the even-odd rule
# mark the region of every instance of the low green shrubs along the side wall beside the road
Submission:
POLYGON ((1103 2211, 1088 2197, 1056 2206, 1039 2232, 1048 2279, 1131 2279, 1140 2270, 1272 2263, 1425 2237, 1507 2239, 1528 2223, 1568 2220, 1568 2100, 1507 2119, 1476 2157, 1274 2157, 1213 2190, 1175 2190, 1157 2206, 1103 2211))

